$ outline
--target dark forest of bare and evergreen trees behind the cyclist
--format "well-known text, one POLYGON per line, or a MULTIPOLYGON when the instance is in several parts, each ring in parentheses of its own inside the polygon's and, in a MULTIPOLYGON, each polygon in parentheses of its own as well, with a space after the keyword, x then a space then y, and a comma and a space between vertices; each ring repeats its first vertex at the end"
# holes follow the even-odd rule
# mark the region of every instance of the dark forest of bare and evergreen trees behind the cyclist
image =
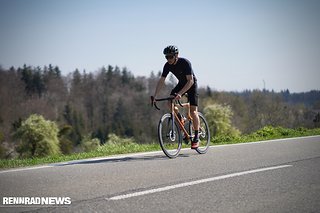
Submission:
MULTIPOLYGON (((106 143, 110 134, 132 137, 138 143, 157 140, 161 113, 150 107, 160 72, 135 77, 128 68, 108 65, 87 73, 76 69, 62 75, 58 66, 0 67, 0 142, 5 157, 16 153, 15 132, 32 114, 58 125, 65 153, 74 152, 83 138, 106 143)), ((169 77, 162 95, 174 86, 169 77)), ((199 110, 219 104, 232 111, 232 127, 250 133, 264 126, 319 127, 320 91, 216 91, 199 88, 199 110)))

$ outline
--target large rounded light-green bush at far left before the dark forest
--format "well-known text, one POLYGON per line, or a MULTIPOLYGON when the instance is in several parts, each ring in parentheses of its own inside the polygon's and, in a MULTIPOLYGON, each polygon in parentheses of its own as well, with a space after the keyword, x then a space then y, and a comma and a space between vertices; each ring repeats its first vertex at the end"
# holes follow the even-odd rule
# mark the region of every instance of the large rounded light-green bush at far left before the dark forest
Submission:
POLYGON ((60 153, 58 127, 41 115, 33 114, 15 132, 20 140, 17 152, 21 157, 43 157, 60 153))

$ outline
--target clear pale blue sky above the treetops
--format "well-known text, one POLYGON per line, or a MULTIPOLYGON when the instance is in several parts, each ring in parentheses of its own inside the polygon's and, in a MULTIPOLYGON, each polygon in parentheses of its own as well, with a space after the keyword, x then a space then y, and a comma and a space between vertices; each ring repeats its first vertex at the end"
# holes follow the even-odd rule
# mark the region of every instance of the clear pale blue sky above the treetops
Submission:
POLYGON ((218 91, 320 90, 318 0, 0 0, 0 66, 162 71, 176 45, 218 91))

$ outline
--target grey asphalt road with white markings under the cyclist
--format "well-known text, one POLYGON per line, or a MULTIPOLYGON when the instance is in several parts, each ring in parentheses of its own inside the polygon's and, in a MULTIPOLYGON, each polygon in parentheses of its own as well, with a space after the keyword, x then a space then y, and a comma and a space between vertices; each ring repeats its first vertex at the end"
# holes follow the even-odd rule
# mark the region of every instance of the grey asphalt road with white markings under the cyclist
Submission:
POLYGON ((320 212, 320 136, 2 170, 4 197, 71 204, 0 212, 320 212))

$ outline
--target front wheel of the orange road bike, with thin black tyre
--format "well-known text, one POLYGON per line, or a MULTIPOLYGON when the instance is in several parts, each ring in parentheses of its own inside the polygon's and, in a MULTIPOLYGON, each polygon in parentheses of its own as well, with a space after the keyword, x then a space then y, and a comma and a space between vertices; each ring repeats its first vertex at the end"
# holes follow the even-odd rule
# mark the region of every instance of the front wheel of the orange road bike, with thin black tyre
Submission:
POLYGON ((181 150, 181 132, 178 124, 172 122, 170 113, 164 114, 158 125, 158 137, 162 151, 169 158, 175 158, 181 150))

